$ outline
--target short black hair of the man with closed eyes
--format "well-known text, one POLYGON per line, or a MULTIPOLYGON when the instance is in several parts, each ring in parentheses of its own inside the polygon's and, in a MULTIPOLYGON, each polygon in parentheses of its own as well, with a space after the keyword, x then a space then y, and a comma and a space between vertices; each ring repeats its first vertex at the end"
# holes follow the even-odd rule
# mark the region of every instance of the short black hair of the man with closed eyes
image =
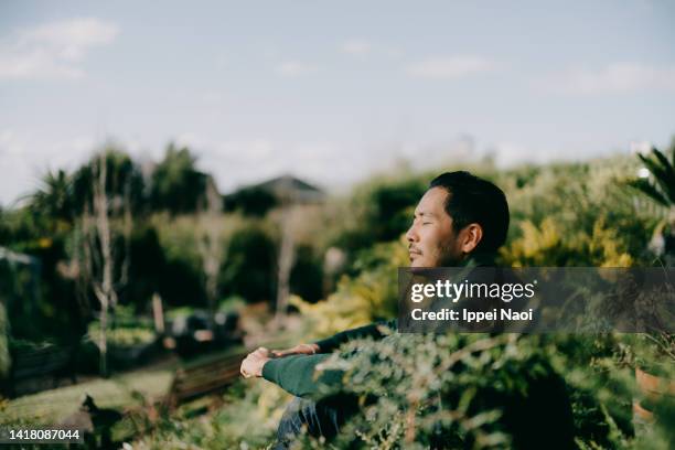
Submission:
POLYGON ((496 251, 508 232, 508 203, 495 184, 467 171, 446 172, 429 183, 429 189, 448 191, 446 212, 452 217, 452 228, 459 233, 467 225, 478 223, 483 238, 475 250, 496 251))

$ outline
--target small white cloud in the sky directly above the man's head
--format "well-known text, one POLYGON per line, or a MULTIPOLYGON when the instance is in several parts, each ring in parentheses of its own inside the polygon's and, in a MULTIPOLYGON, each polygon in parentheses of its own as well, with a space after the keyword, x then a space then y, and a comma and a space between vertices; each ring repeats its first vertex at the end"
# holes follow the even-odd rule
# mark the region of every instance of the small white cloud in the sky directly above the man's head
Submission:
POLYGON ((456 79, 494 69, 495 63, 481 56, 432 57, 409 64, 409 76, 435 79, 456 79))

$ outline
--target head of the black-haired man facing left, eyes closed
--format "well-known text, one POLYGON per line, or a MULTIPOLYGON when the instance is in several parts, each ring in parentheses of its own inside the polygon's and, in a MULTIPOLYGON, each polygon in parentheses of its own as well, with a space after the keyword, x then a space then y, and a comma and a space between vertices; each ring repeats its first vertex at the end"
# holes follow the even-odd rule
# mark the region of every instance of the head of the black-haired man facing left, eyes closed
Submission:
POLYGON ((447 172, 429 183, 406 233, 411 267, 456 266, 506 240, 508 204, 501 189, 469 172, 447 172))

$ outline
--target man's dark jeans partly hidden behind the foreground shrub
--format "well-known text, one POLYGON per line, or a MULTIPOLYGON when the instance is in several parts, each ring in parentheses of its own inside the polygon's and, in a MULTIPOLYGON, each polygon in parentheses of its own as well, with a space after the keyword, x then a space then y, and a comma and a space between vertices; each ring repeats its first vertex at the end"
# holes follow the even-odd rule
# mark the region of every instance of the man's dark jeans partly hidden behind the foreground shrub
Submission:
POLYGON ((290 448, 292 441, 303 432, 330 440, 355 411, 357 401, 353 397, 340 396, 318 401, 296 397, 279 421, 277 441, 272 449, 290 448))

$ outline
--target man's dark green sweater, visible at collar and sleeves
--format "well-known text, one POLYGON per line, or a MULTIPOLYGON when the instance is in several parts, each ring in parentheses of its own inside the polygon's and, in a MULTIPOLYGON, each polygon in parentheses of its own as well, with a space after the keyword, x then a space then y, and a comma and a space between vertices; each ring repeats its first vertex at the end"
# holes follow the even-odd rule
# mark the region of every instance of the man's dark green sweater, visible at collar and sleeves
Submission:
MULTIPOLYGON (((463 267, 491 266, 494 255, 474 255, 467 259, 463 267)), ((319 352, 314 355, 292 355, 268 361, 262 366, 262 377, 279 385, 282 389, 298 397, 308 397, 319 393, 321 385, 339 385, 342 383, 342 371, 317 372, 317 366, 326 361, 331 353, 349 341, 372 338, 383 339, 383 325, 394 331, 398 330, 397 320, 382 321, 342 331, 331 338, 318 341, 319 352)))

